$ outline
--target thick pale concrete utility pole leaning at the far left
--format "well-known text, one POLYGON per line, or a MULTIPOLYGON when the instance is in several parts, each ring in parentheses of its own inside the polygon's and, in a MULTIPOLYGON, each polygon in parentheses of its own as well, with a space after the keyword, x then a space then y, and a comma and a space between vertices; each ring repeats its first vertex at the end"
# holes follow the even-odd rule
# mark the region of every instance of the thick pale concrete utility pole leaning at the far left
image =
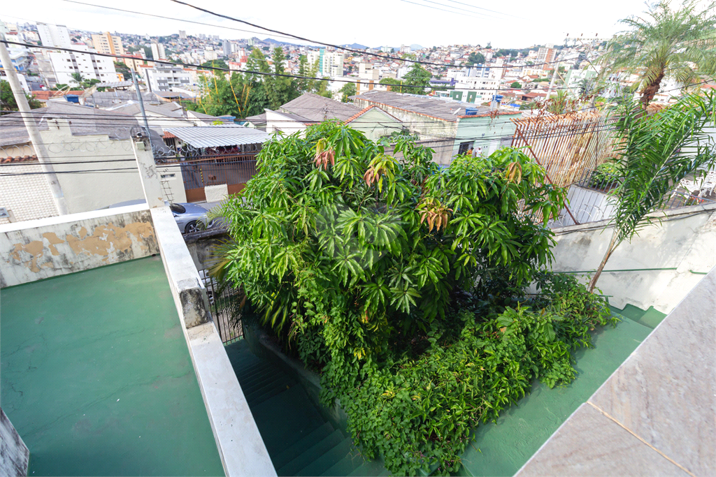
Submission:
POLYGON ((25 123, 27 135, 30 138, 30 142, 32 142, 33 149, 35 149, 35 155, 37 155, 37 160, 40 163, 40 167, 42 167, 42 172, 45 177, 47 177, 49 190, 52 192, 52 200, 54 201, 54 206, 57 208, 57 213, 59 215, 67 215, 69 212, 67 210, 67 201, 64 200, 64 194, 62 193, 62 186, 59 185, 59 180, 57 179, 57 174, 54 172, 54 167, 52 167, 52 162, 47 160, 49 154, 47 154, 47 149, 44 147, 44 142, 42 142, 42 136, 40 136, 39 129, 37 129, 37 124, 30 114, 30 105, 27 104, 25 92, 20 86, 19 79, 17 79, 15 68, 12 66, 10 54, 5 47, 4 41, 5 32, 0 30, 0 60, 2 60, 2 64, 4 65, 3 69, 5 70, 5 74, 7 74, 7 80, 10 83, 12 95, 15 97, 17 109, 19 109, 20 116, 25 123))

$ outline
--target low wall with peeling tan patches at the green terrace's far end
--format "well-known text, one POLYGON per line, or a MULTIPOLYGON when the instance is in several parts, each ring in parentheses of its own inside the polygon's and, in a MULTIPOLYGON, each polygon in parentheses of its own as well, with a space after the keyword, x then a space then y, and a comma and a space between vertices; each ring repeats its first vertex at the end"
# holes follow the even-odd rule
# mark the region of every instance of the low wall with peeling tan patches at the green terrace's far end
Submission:
POLYGON ((146 205, 0 225, 0 287, 158 252, 146 205))

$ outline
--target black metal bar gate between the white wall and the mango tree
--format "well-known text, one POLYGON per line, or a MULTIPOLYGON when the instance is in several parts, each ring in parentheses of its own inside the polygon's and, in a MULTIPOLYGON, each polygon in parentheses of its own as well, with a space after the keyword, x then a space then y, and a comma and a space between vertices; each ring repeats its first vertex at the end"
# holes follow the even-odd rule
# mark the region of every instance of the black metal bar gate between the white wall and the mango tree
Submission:
POLYGON ((211 316, 216 323, 221 341, 230 345, 243 337, 241 327, 240 305, 243 294, 236 288, 224 287, 222 290, 215 278, 208 270, 201 270, 200 277, 206 287, 206 294, 211 305, 211 316))

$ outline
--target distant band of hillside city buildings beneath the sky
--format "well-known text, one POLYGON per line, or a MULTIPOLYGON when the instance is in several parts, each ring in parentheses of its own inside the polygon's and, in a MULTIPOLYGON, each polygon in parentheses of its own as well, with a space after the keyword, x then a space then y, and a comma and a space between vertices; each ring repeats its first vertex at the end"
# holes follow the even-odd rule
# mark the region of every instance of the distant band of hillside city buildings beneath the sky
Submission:
MULTIPOLYGON (((597 59, 609 38, 596 36, 566 38, 563 44, 533 45, 523 49, 500 49, 486 45, 410 46, 349 45, 354 51, 332 47, 303 46, 271 38, 221 39, 218 35, 187 34, 180 30, 170 36, 92 32, 69 29, 64 25, 8 23, 6 34, 14 66, 21 72, 26 92, 81 89, 84 84, 105 84, 103 88, 122 88, 113 83, 131 80, 131 71, 151 92, 175 92, 196 102, 207 92, 202 77, 244 72, 255 63, 251 52, 274 68, 276 49, 283 59, 281 70, 288 74, 310 72, 326 80, 324 95, 342 99, 346 81, 357 81, 355 93, 370 90, 431 94, 474 104, 490 104, 498 94, 503 108, 517 108, 546 99, 558 91, 572 96, 584 92, 586 84, 601 71, 597 59), (21 46, 25 44, 28 46, 21 46), (52 51, 42 45, 86 51, 52 51), (93 53, 116 55, 114 59, 93 53), (381 56, 390 56, 383 59, 381 56), (301 68, 301 58, 307 68, 301 68), (154 62, 162 60, 165 63, 154 62), (415 63, 428 80, 421 89, 411 88, 410 72, 415 63), (83 64, 95 65, 95 68, 83 64), (171 64, 177 64, 172 67, 171 64), (191 65, 191 66, 190 66, 191 65), (206 67, 218 69, 205 69, 206 67), (73 75, 81 75, 77 82, 73 75), (226 74, 226 73, 223 73, 226 74), (401 87, 407 84, 408 87, 401 87), (556 89, 555 89, 556 88, 556 89)), ((612 76, 610 80, 629 85, 636 74, 612 76)), ((126 86, 124 86, 126 87, 126 86)), ((32 93, 47 99, 49 94, 32 93)), ((677 84, 662 82, 655 102, 667 103, 678 96, 677 84)), ((524 108, 523 108, 524 109, 524 108)))

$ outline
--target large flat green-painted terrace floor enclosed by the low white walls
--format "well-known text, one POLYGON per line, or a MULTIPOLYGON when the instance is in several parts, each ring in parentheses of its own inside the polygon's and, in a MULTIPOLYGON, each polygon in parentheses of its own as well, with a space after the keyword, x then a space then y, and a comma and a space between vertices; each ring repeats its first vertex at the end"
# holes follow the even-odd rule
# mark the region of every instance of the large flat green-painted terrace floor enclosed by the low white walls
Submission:
POLYGON ((159 257, 0 290, 0 313, 30 476, 223 475, 159 257))

